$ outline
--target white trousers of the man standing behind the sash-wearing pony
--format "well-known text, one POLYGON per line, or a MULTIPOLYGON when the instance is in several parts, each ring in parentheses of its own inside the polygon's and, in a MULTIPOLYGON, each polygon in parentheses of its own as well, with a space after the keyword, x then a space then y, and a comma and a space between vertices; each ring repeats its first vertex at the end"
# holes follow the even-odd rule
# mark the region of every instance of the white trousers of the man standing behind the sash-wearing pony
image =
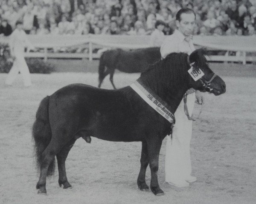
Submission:
MULTIPOLYGON (((195 93, 187 96, 187 107, 191 116, 195 104, 195 93)), ((174 182, 186 180, 191 174, 190 140, 192 120, 184 113, 183 99, 175 112, 176 123, 171 136, 167 136, 165 157, 165 180, 174 182)))

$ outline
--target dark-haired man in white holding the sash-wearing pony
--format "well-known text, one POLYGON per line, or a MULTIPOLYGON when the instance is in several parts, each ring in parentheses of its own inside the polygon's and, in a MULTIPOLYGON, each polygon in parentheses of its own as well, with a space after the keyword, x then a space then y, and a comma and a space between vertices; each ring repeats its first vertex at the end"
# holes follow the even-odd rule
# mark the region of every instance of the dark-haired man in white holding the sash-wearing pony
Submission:
MULTIPOLYGON (((176 26, 175 32, 166 37, 161 45, 160 52, 163 58, 172 52, 191 54, 195 50, 192 42, 195 12, 189 8, 180 9, 176 15, 176 26)), ((195 100, 201 104, 203 98, 201 93, 193 88, 186 93, 188 94, 188 111, 189 114, 192 114, 195 100)), ((196 177, 191 176, 190 140, 192 121, 184 113, 183 100, 175 112, 175 119, 172 138, 168 136, 166 143, 165 180, 176 187, 186 187, 189 186, 189 182, 196 181, 196 177)))

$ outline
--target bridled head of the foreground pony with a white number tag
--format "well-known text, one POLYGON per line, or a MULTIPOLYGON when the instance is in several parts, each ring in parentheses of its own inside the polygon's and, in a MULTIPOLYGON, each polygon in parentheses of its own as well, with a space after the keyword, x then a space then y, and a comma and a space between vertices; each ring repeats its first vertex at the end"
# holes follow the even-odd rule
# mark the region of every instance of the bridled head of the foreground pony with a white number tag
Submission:
POLYGON ((215 96, 224 94, 225 82, 209 68, 204 54, 204 49, 198 49, 187 58, 190 66, 190 83, 193 88, 202 92, 209 92, 215 96))

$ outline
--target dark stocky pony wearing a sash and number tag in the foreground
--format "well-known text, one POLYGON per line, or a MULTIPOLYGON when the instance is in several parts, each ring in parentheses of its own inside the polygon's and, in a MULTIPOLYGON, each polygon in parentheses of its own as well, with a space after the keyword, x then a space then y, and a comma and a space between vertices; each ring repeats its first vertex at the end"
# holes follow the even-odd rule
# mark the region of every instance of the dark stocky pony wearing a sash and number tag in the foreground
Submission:
MULTIPOLYGON (((185 92, 193 87, 206 91, 207 81, 214 73, 209 69, 200 50, 189 57, 184 53, 170 54, 141 74, 140 81, 163 99, 175 113, 185 92), (189 61, 189 62, 188 62, 189 61), (194 81, 188 74, 190 62, 205 75, 194 81)), ((225 92, 224 81, 216 76, 208 91, 220 95, 225 92)), ((140 190, 148 190, 145 171, 151 169, 151 191, 163 195, 157 181, 158 158, 162 140, 171 133, 171 124, 151 108, 130 86, 106 90, 84 84, 67 85, 45 97, 36 113, 33 125, 35 152, 40 169, 36 185, 38 193, 46 193, 46 178, 58 161, 59 185, 71 187, 67 181, 65 160, 76 139, 90 136, 108 141, 142 142, 141 167, 137 179, 140 190)))

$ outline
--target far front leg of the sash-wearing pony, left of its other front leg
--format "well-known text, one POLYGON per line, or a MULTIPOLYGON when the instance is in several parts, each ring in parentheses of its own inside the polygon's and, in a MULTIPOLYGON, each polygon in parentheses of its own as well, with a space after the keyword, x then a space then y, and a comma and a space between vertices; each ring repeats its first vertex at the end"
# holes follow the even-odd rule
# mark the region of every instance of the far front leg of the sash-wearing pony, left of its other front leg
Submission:
POLYGON ((141 158, 140 158, 140 173, 137 179, 137 184, 140 190, 148 190, 148 185, 146 184, 145 181, 145 173, 146 169, 148 167, 148 146, 147 142, 143 141, 142 142, 142 150, 141 150, 141 158))

